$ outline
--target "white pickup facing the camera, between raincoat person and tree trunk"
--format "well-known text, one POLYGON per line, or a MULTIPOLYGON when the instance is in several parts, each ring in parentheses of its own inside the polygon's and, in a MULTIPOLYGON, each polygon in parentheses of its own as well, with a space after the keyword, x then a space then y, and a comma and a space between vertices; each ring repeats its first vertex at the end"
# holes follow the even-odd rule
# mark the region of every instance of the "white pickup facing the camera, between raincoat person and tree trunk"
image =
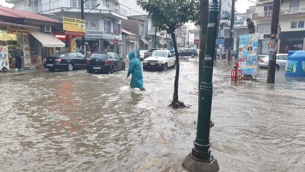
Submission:
POLYGON ((143 61, 143 70, 167 71, 169 67, 176 67, 176 58, 169 50, 155 50, 143 61))

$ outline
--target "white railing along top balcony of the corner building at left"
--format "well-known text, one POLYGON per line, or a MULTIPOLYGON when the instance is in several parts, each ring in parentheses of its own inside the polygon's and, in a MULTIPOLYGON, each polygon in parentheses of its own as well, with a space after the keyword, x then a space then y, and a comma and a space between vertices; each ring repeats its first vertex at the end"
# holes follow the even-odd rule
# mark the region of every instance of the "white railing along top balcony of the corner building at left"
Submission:
MULTIPOLYGON (((109 12, 115 12, 117 14, 127 16, 127 10, 124 10, 120 8, 117 5, 114 5, 112 3, 105 3, 102 2, 102 0, 97 1, 97 2, 86 2, 84 3, 84 9, 93 9, 96 7, 99 3, 101 4, 100 6, 94 8, 96 10, 109 10, 109 12), (101 2, 100 2, 101 1, 101 2)), ((42 4, 36 7, 31 7, 28 9, 25 9, 24 11, 29 11, 33 13, 50 13, 59 9, 80 9, 80 1, 79 0, 58 0, 58 1, 53 1, 50 3, 42 4)))

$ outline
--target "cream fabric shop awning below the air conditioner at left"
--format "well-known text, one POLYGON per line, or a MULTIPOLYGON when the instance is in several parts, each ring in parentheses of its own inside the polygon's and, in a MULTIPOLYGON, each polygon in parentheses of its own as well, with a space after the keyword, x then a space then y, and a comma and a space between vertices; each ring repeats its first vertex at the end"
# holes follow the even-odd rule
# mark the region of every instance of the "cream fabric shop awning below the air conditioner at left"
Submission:
POLYGON ((31 33, 42 46, 45 47, 65 47, 66 44, 63 41, 60 41, 53 34, 46 34, 42 32, 31 33))

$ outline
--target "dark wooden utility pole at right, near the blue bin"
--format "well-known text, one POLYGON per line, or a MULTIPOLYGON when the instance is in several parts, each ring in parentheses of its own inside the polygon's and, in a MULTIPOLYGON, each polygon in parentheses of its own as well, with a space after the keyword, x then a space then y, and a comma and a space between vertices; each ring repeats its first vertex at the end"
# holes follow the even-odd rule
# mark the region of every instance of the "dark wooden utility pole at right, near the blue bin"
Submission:
POLYGON ((278 25, 280 18, 280 10, 283 0, 274 0, 271 18, 271 34, 269 41, 269 62, 267 82, 275 83, 276 77, 276 62, 277 62, 277 46, 278 46, 278 25))

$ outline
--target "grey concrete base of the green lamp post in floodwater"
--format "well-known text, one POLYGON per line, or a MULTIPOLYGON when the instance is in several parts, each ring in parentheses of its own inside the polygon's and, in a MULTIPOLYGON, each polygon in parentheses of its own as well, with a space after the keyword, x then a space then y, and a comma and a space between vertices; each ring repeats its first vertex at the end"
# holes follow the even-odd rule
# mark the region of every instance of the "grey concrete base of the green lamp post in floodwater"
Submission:
POLYGON ((215 158, 213 158, 209 163, 198 162, 191 157, 191 154, 186 156, 185 160, 182 163, 182 166, 184 166, 187 170, 191 172, 193 171, 213 172, 219 170, 219 165, 215 158))

